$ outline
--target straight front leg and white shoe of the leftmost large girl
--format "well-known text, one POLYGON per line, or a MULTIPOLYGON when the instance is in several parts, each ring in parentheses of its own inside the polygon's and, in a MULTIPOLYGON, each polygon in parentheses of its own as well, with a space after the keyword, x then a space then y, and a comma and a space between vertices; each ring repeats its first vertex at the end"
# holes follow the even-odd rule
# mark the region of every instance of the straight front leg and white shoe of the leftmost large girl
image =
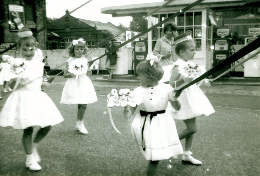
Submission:
POLYGON ((32 171, 39 171, 42 168, 34 159, 34 155, 32 152, 32 135, 33 135, 33 127, 29 127, 23 130, 22 141, 26 153, 25 166, 32 171))

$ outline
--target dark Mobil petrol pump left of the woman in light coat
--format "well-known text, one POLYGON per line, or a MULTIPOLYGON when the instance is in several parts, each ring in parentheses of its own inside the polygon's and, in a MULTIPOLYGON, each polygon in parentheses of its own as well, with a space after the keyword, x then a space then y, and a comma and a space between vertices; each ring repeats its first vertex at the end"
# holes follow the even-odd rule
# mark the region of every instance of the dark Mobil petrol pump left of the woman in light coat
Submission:
POLYGON ((147 41, 134 41, 134 74, 136 73, 136 66, 146 59, 148 54, 147 41))

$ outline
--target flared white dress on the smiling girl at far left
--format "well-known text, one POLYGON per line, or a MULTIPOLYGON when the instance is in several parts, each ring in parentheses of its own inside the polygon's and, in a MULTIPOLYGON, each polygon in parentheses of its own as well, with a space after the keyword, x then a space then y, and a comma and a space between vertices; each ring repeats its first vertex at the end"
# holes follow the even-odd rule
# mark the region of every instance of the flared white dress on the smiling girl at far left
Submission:
POLYGON ((47 127, 64 120, 53 101, 41 91, 43 66, 38 60, 29 61, 26 68, 29 77, 21 79, 6 100, 0 114, 0 126, 14 129, 47 127), (30 82, 21 86, 25 81, 30 82))

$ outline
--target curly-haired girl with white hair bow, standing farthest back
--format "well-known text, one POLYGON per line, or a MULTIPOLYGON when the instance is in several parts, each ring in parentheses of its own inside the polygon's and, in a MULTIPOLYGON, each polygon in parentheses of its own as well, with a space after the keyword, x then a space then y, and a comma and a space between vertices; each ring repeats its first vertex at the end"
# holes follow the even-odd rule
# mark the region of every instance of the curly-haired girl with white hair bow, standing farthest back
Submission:
POLYGON ((88 66, 88 59, 84 58, 87 52, 86 42, 83 39, 73 40, 68 47, 69 58, 66 61, 64 70, 64 78, 68 78, 61 95, 62 104, 77 104, 77 123, 76 130, 82 134, 87 134, 88 131, 84 126, 83 117, 86 111, 87 104, 97 102, 96 91, 88 76, 91 76, 91 68, 88 66), (75 75, 69 72, 69 68, 74 67, 76 63, 82 63, 85 72, 80 75, 75 75))

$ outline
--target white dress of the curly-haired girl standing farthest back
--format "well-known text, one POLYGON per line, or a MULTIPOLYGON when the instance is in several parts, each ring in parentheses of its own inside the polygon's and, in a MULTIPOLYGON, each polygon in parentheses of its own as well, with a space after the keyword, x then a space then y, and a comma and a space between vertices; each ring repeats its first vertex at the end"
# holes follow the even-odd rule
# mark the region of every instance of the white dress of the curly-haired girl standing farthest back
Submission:
MULTIPOLYGON (((82 58, 69 58, 66 62, 69 66, 75 65, 82 58)), ((88 62, 86 58, 81 60, 88 62)), ((97 102, 96 91, 86 73, 76 77, 68 78, 61 95, 62 104, 90 104, 97 102)))

